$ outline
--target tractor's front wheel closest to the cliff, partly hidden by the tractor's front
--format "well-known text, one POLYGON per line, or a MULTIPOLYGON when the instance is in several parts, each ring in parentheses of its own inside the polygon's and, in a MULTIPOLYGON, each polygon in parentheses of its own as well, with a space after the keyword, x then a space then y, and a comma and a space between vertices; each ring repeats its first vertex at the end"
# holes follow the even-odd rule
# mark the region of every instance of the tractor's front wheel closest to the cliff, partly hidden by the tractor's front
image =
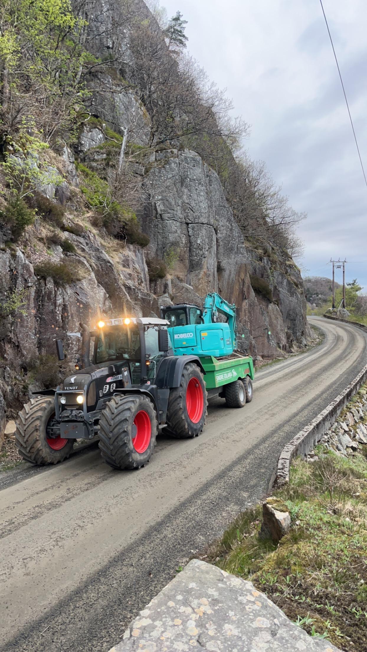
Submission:
MULTIPOLYGON (((47 437, 47 429, 50 428, 53 417, 55 417, 53 396, 32 398, 19 413, 15 443, 27 462, 40 465, 57 464, 70 455, 74 439, 61 439, 60 436, 47 437)), ((55 428, 57 429, 57 424, 55 428)))

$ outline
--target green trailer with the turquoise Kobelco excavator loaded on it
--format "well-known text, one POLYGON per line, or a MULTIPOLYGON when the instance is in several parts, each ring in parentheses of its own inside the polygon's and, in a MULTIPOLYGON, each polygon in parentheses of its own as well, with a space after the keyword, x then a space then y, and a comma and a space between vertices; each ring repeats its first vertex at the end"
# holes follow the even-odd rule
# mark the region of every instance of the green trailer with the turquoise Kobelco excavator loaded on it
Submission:
POLYGON ((202 309, 189 303, 161 306, 160 317, 169 323, 173 355, 198 356, 208 398, 225 398, 231 408, 242 408, 252 400, 254 364, 252 357, 236 351, 235 304, 211 292, 202 309), (218 321, 219 315, 226 321, 218 321))

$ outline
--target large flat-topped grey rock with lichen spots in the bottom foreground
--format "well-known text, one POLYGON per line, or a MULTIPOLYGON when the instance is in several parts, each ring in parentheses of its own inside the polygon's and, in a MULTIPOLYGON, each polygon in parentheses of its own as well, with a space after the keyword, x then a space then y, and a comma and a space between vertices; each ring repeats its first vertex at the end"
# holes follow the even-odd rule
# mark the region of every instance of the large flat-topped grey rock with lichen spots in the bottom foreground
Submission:
POLYGON ((110 652, 338 652, 291 623, 251 582, 193 559, 110 652))

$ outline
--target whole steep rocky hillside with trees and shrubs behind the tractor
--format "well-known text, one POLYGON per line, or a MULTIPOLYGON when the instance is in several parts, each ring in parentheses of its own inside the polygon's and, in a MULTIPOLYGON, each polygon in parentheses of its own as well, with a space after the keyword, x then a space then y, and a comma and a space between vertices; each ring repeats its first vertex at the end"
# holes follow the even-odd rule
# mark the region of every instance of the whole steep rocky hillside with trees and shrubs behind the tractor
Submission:
POLYGON ((67 333, 98 316, 218 291, 254 357, 304 346, 287 233, 236 163, 218 96, 192 95, 145 3, 18 5, 17 45, 0 50, 0 422, 4 402, 10 414, 59 380, 55 338, 72 359, 67 333))

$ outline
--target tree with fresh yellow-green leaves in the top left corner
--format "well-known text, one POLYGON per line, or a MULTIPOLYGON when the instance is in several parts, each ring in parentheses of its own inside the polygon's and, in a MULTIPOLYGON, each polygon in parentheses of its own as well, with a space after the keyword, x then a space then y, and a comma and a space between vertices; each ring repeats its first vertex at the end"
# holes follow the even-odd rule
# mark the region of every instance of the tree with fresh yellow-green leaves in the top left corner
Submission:
POLYGON ((46 141, 70 126, 85 96, 82 46, 85 21, 70 0, 3 0, 0 3, 0 119, 3 138, 29 119, 46 141))

